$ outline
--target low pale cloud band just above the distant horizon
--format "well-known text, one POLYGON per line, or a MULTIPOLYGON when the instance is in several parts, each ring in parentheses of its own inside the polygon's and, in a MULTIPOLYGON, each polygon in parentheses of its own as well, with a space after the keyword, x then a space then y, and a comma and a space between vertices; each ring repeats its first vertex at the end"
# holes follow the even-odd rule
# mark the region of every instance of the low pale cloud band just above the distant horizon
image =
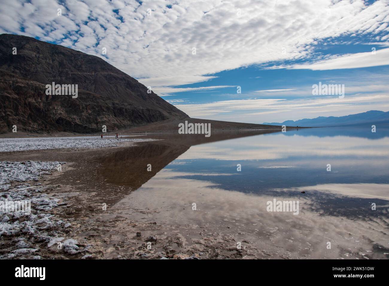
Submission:
MULTIPOLYGON (((192 118, 226 120, 229 112, 233 117, 244 117, 245 122, 282 122, 301 119, 304 113, 325 113, 324 116, 343 116, 368 110, 388 111, 389 93, 375 95, 354 95, 344 98, 317 96, 314 98, 224 100, 205 104, 174 104, 192 118), (272 116, 273 114, 273 116, 272 116)), ((313 116, 316 117, 316 116, 313 116)), ((229 119, 232 120, 231 118, 229 119)), ((234 120, 239 121, 239 120, 234 120)))

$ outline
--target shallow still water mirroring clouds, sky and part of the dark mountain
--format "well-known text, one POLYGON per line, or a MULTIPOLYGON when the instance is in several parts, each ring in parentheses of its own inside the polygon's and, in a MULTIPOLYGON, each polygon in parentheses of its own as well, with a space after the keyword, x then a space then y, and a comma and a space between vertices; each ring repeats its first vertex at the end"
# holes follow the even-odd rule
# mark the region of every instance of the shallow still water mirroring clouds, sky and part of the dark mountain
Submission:
POLYGON ((226 134, 194 145, 190 135, 182 144, 173 135, 144 143, 133 169, 104 164, 102 174, 110 169, 108 181, 120 178, 136 189, 118 205, 158 210, 153 219, 161 224, 244 233, 258 247, 279 247, 293 258, 388 258, 389 130, 314 128, 227 140, 226 134), (142 186, 134 177, 143 178, 142 186), (299 202, 298 214, 269 212, 274 199, 299 202))

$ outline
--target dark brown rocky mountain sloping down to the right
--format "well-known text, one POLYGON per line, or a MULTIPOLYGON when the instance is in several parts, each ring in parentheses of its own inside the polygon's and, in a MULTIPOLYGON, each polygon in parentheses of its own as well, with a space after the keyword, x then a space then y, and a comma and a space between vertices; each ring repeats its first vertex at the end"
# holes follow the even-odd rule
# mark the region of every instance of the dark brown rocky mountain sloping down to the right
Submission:
POLYGON ((20 35, 0 35, 0 133, 107 132, 187 114, 97 56, 20 35), (12 51, 16 47, 16 54, 12 51), (77 84, 78 97, 46 84, 77 84))

